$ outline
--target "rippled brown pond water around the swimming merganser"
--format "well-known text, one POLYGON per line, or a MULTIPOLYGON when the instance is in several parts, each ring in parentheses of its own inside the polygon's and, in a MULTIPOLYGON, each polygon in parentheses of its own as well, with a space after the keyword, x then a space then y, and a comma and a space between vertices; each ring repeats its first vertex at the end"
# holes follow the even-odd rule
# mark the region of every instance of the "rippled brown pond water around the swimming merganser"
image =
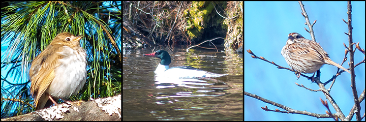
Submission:
MULTIPOLYGON (((126 49, 123 51, 123 120, 243 120, 243 62, 230 51, 126 49), (166 50, 170 67, 192 66, 228 74, 218 78, 165 79, 155 76, 166 50)), ((179 73, 177 73, 179 74, 179 73)))

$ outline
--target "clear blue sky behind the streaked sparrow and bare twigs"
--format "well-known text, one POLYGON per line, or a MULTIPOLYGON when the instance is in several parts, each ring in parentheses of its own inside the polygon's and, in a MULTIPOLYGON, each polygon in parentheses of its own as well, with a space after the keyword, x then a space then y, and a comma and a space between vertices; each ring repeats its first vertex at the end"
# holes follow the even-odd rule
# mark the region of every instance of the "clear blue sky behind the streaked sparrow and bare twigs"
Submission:
MULTIPOLYGON (((344 34, 348 32, 348 27, 342 20, 347 20, 347 2, 303 2, 303 4, 310 17, 310 22, 317 20, 313 27, 317 42, 328 52, 335 63, 340 64, 345 51, 343 43, 348 45, 348 37, 344 34)), ((365 48, 364 6, 364 1, 352 2, 353 41, 360 42, 361 48, 365 48)), ((310 34, 304 29, 308 26, 304 24, 305 19, 301 15, 298 2, 245 2, 244 10, 244 49, 250 49, 257 56, 262 56, 280 66, 289 67, 281 55, 281 49, 285 46, 289 33, 296 32, 304 38, 311 39, 310 34)), ((349 55, 347 56, 349 57, 349 55)), ((277 69, 274 65, 260 59, 254 59, 248 52, 244 53, 244 57, 244 90, 246 92, 296 110, 325 114, 326 108, 319 100, 319 98, 326 100, 324 94, 310 92, 298 87, 295 82, 312 89, 319 89, 317 84, 311 83, 304 77, 296 80, 293 72, 277 69)), ((356 51, 355 64, 361 62, 363 58, 364 54, 356 51)), ((349 68, 347 62, 343 67, 349 68)), ((335 66, 324 65, 320 70, 322 72, 321 81, 330 79, 336 70, 335 66)), ((355 72, 359 95, 365 88, 364 64, 356 67, 355 72)), ((307 75, 311 76, 312 74, 307 75)), ((346 116, 353 106, 350 86, 350 74, 345 72, 336 79, 330 91, 333 99, 346 116)), ((329 85, 325 87, 329 88, 329 85)), ((299 114, 267 112, 260 107, 268 106, 272 110, 283 109, 248 96, 245 96, 244 100, 245 120, 333 120, 299 114)), ((361 107, 365 108, 364 101, 361 103, 361 107)), ((335 112, 332 107, 331 111, 335 112)), ((361 113, 364 113, 364 109, 361 109, 361 113)), ((355 120, 355 117, 352 120, 355 120)))

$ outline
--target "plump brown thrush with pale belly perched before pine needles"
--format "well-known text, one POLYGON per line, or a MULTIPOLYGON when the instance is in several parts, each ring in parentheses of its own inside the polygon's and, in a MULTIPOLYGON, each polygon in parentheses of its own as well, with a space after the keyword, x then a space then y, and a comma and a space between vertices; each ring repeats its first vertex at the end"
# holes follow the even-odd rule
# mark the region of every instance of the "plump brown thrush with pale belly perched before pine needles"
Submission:
POLYGON ((58 34, 39 54, 29 70, 31 93, 36 110, 45 107, 48 99, 65 99, 76 95, 86 80, 86 52, 80 47, 83 36, 58 34))

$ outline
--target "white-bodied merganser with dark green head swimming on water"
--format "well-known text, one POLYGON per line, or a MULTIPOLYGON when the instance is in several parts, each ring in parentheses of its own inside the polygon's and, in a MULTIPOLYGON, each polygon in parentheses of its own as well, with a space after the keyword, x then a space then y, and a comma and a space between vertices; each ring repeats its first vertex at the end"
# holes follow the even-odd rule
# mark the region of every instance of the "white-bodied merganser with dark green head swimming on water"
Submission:
POLYGON ((165 50, 158 50, 154 53, 144 54, 144 56, 157 57, 161 59, 157 69, 155 70, 156 75, 164 75, 175 78, 215 78, 228 75, 210 73, 190 66, 169 68, 171 59, 169 53, 165 50))

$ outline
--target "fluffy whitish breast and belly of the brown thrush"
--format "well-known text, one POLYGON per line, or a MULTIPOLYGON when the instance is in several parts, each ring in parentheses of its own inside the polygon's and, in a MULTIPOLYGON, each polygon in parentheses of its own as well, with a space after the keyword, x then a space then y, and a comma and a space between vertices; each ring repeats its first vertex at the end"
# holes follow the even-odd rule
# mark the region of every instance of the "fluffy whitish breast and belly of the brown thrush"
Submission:
POLYGON ((81 47, 63 46, 61 49, 63 51, 57 52, 59 65, 54 69, 55 75, 46 93, 64 99, 76 95, 85 83, 86 53, 81 47))

